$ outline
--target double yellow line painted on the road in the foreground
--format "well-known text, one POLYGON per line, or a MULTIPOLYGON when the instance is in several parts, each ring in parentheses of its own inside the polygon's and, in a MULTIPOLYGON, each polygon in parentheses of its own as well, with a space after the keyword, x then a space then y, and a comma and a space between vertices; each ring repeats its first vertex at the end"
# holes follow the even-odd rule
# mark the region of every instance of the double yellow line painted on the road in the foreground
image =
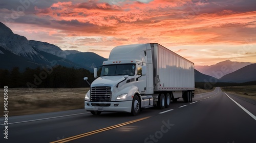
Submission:
POLYGON ((140 119, 136 119, 136 120, 133 120, 133 121, 129 121, 129 122, 121 123, 121 124, 118 124, 118 125, 106 127, 106 128, 103 128, 103 129, 99 129, 99 130, 95 130, 95 131, 91 131, 91 132, 87 132, 87 133, 71 136, 71 137, 68 137, 68 138, 63 138, 63 139, 56 140, 56 141, 53 141, 53 142, 50 142, 50 143, 68 142, 68 141, 75 140, 75 139, 78 139, 78 138, 86 137, 86 136, 93 135, 93 134, 96 134, 96 133, 100 133, 100 132, 103 132, 103 131, 108 131, 108 130, 115 129, 115 128, 118 128, 118 127, 121 127, 121 126, 132 124, 132 123, 135 123, 135 122, 138 122, 138 121, 141 121, 141 120, 145 120, 145 119, 150 118, 150 117, 151 116, 140 118, 140 119))

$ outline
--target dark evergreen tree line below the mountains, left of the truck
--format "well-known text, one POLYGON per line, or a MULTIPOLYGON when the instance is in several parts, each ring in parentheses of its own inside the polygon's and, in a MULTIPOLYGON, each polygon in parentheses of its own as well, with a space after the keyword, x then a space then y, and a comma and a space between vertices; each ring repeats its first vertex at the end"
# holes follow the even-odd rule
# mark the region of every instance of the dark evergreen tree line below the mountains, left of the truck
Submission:
POLYGON ((67 68, 63 66, 42 69, 26 68, 20 72, 18 67, 11 71, 0 69, 0 86, 8 88, 84 88, 94 80, 93 74, 86 69, 67 68))

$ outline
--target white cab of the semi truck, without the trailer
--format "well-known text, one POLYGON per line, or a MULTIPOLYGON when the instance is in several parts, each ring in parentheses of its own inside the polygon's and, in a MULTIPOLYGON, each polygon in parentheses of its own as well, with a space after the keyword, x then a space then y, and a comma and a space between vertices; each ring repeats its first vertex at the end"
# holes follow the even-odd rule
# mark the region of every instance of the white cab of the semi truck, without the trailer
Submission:
MULTIPOLYGON (((94 76, 97 70, 94 70, 94 76)), ((102 64, 84 98, 84 108, 93 115, 102 111, 131 112, 153 106, 153 64, 150 44, 115 47, 102 64)))

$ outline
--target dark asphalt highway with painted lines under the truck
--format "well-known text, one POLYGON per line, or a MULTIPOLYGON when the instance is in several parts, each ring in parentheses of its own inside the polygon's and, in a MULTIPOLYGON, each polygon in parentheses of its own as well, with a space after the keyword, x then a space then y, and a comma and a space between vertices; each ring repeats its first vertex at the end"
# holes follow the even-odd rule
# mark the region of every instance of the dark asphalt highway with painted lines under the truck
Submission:
POLYGON ((0 118, 0 142, 256 142, 256 102, 215 91, 139 116, 84 109, 0 118), (235 103, 236 102, 236 103, 235 103))

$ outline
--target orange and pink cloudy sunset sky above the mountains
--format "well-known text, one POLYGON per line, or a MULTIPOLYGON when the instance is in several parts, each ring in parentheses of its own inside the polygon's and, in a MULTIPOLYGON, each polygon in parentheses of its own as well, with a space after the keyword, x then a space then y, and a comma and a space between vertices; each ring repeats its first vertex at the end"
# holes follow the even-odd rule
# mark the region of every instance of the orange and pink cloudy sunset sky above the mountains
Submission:
POLYGON ((104 58, 156 42, 195 65, 256 63, 255 0, 1 0, 0 21, 28 40, 104 58))

